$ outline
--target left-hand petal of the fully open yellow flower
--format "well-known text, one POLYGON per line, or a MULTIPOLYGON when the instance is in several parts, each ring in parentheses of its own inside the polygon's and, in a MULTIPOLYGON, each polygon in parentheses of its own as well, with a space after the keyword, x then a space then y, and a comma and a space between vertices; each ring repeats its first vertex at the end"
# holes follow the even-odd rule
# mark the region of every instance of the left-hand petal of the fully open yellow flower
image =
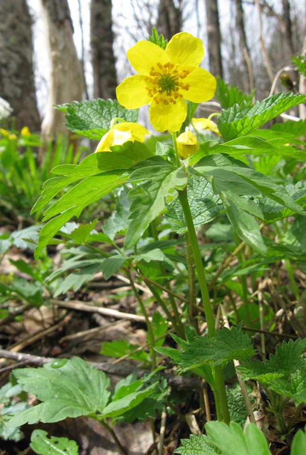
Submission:
POLYGON ((138 109, 149 104, 151 98, 146 90, 146 76, 136 75, 124 79, 116 88, 116 96, 119 103, 126 109, 138 109))

